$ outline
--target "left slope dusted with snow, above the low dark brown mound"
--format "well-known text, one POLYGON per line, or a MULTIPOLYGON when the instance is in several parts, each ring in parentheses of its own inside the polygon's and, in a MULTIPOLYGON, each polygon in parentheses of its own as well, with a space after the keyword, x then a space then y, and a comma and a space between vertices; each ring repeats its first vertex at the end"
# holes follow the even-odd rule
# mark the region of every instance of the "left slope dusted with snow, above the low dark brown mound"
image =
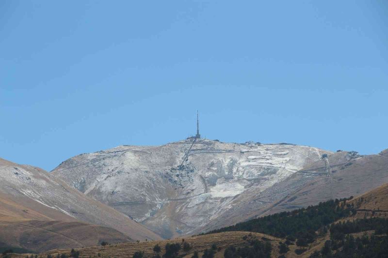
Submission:
POLYGON ((43 169, 3 159, 0 159, 0 203, 3 204, 1 221, 82 221, 114 228, 133 240, 160 239, 124 214, 87 197, 43 169))

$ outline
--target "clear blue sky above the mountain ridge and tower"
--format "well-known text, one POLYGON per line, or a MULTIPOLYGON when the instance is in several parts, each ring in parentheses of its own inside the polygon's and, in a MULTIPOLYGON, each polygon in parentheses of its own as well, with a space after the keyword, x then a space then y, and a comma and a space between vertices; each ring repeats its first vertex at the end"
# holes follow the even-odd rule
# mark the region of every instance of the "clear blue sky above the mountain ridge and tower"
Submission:
POLYGON ((388 1, 0 1, 0 157, 195 134, 388 148, 388 1))

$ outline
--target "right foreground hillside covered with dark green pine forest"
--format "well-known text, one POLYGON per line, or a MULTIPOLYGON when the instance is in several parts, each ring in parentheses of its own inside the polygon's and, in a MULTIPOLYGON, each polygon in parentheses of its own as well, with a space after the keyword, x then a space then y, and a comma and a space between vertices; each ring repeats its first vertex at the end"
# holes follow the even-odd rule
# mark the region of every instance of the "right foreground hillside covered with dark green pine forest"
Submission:
POLYGON ((290 244, 285 257, 386 257, 388 217, 380 207, 387 207, 387 198, 385 184, 359 197, 275 213, 208 234, 248 230, 296 240, 296 246, 285 242, 290 244))

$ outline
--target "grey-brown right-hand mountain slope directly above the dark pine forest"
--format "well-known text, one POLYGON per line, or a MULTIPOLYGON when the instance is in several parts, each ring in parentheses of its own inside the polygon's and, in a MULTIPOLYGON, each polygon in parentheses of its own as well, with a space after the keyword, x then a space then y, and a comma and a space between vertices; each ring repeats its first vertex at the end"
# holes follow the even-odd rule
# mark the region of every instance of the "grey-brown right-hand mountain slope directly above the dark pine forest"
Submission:
POLYGON ((310 163, 287 179, 258 193, 255 198, 236 197, 233 208, 195 233, 232 225, 257 216, 316 205, 333 198, 358 196, 388 182, 388 155, 335 152, 310 163), (328 167, 330 176, 328 176, 328 167), (237 213, 235 211, 240 211, 237 213))

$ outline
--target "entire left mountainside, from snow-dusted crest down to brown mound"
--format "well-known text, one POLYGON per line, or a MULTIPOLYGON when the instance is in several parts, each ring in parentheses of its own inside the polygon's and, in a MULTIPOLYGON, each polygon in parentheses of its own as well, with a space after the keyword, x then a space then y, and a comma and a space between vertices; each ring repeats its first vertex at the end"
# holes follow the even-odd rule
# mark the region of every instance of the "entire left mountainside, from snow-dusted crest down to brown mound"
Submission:
POLYGON ((43 169, 0 159, 0 247, 48 250, 160 239, 43 169))

